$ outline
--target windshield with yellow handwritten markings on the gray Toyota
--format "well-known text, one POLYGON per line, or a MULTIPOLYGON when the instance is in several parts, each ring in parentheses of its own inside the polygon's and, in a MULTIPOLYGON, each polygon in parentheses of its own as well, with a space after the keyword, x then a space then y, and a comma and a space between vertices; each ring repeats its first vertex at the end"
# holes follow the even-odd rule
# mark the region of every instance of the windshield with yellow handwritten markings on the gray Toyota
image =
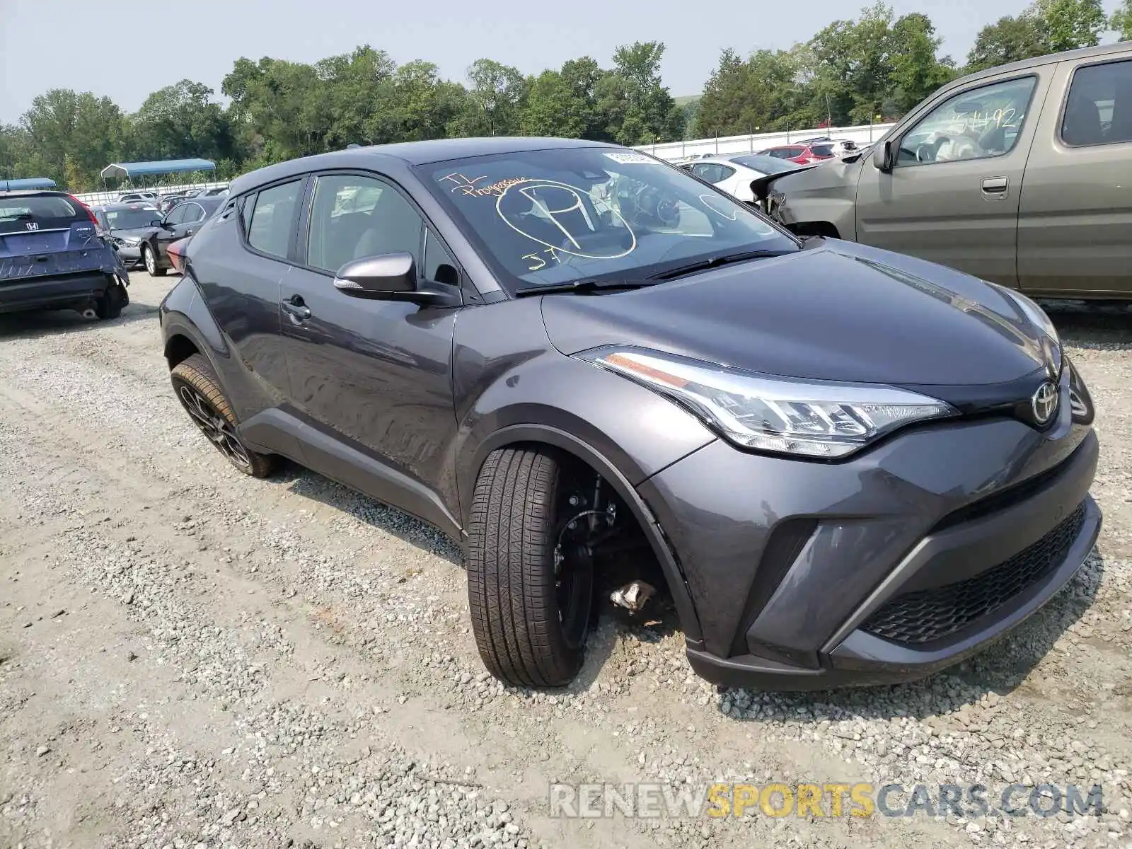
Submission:
POLYGON ((751 207, 635 151, 520 151, 428 169, 430 190, 511 292, 797 248, 751 207))

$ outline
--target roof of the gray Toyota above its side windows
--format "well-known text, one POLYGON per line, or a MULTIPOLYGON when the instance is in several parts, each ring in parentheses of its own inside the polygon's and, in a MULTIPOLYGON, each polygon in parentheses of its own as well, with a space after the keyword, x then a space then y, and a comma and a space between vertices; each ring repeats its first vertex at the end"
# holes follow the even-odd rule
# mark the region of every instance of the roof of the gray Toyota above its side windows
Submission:
MULTIPOLYGON (((563 147, 610 147, 620 148, 606 142, 588 142, 581 138, 541 138, 531 136, 490 136, 481 138, 437 138, 427 142, 397 142, 388 145, 370 145, 369 147, 351 147, 345 151, 320 153, 303 156, 298 160, 281 162, 275 165, 250 171, 229 183, 231 195, 240 195, 273 180, 301 174, 324 168, 365 168, 370 157, 401 160, 408 165, 427 165, 432 162, 457 160, 468 156, 490 156, 500 153, 521 153, 525 151, 554 151, 563 147)), ((374 162, 374 164, 377 164, 374 162)))

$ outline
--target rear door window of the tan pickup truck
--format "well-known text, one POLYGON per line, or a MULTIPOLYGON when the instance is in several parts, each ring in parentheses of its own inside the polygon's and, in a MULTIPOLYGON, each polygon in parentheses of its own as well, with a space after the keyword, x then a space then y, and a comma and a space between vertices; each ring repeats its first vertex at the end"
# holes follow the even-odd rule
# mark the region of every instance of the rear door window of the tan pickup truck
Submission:
POLYGON ((1132 61, 1073 71, 1061 132, 1073 147, 1132 142, 1132 61))

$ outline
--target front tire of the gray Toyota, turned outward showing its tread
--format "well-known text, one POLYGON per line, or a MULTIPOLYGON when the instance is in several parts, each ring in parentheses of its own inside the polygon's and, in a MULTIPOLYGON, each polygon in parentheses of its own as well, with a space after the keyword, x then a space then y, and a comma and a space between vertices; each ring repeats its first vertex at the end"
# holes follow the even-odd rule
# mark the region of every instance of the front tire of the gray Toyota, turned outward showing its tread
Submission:
POLYGON ((549 448, 494 452, 472 499, 468 597, 475 645, 488 670, 516 686, 564 686, 584 659, 593 564, 556 558, 569 509, 560 456, 549 448))

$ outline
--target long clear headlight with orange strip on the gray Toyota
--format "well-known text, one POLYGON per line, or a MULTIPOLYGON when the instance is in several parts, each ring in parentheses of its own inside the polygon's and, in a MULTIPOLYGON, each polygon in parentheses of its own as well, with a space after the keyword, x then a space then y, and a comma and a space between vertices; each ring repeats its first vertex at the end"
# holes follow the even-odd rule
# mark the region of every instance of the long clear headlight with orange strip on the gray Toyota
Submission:
POLYGON ((640 348, 575 355, 691 408, 740 447, 778 454, 844 457, 897 428, 958 414, 893 386, 761 375, 640 348))

